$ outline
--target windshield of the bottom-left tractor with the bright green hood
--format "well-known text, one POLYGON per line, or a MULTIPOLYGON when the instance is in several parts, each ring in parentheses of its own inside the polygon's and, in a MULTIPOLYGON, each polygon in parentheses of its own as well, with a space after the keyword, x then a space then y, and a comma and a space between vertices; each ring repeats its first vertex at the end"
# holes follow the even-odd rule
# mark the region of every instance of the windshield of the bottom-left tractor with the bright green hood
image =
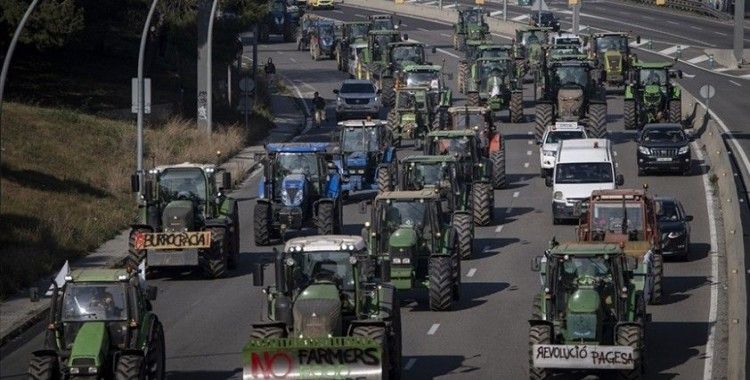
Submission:
POLYGON ((63 322, 124 321, 128 319, 125 285, 69 283, 63 295, 63 322))

